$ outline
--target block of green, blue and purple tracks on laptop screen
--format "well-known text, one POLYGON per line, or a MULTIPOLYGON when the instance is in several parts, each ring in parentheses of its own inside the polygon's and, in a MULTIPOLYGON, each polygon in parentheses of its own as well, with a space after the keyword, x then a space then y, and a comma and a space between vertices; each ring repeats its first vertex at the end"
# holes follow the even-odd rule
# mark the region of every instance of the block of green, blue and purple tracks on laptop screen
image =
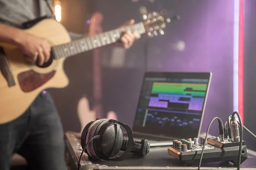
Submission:
POLYGON ((154 82, 148 106, 201 111, 206 92, 206 84, 154 82))

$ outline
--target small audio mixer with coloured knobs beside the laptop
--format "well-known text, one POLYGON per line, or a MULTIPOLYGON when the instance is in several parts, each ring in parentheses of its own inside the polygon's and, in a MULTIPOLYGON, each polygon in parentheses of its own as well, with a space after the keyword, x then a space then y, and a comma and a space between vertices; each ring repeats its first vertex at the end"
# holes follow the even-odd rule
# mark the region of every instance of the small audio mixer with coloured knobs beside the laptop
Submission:
MULTIPOLYGON (((180 161, 188 164, 199 164, 200 156, 204 146, 205 138, 191 138, 185 140, 181 139, 173 140, 173 145, 168 148, 169 155, 179 159, 180 161)), ((246 142, 242 142, 241 150, 241 163, 247 159, 246 142)), ((207 144, 204 148, 202 163, 218 162, 218 161, 230 161, 236 166, 239 155, 239 142, 233 142, 231 140, 220 141, 219 137, 208 138, 207 144)))

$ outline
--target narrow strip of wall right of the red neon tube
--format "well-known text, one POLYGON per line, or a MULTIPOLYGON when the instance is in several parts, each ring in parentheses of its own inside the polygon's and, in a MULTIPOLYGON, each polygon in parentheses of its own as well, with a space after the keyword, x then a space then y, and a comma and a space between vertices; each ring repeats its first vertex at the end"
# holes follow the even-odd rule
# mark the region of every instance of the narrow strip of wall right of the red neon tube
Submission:
MULTIPOLYGON (((244 1, 244 125, 256 134, 256 1, 244 1)), ((256 150, 256 139, 244 131, 247 147, 256 150)))

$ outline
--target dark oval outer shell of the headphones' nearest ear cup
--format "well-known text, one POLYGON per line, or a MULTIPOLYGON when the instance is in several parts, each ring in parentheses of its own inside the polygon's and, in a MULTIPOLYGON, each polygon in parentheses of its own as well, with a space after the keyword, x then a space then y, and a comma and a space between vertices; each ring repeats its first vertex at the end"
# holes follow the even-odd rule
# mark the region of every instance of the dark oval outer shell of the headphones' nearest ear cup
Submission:
POLYGON ((102 152, 107 157, 113 157, 117 153, 119 153, 121 147, 122 147, 122 141, 123 141, 123 133, 122 129, 119 125, 117 125, 119 128, 116 128, 115 125, 110 125, 104 132, 102 136, 102 152), (116 130, 119 130, 119 135, 116 136, 116 130), (115 142, 117 142, 115 144, 115 142))

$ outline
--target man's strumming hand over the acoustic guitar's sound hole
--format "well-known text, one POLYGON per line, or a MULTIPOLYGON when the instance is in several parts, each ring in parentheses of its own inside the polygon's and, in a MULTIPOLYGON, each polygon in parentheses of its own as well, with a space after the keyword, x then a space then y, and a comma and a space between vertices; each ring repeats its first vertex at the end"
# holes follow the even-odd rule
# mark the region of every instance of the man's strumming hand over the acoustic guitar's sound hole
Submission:
POLYGON ((22 31, 17 38, 17 44, 33 63, 38 60, 38 64, 43 65, 50 58, 51 46, 47 40, 22 31))

